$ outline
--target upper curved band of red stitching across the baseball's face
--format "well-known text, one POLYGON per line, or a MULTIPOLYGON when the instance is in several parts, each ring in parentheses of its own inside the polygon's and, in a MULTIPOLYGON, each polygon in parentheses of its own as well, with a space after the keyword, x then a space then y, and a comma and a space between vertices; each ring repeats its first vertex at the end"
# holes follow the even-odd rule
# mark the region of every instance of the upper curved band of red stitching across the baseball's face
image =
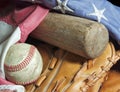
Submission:
POLYGON ((34 52, 35 52, 35 47, 31 46, 27 57, 20 64, 10 65, 10 66, 5 64, 4 65, 5 69, 9 72, 16 72, 16 71, 22 70, 23 68, 25 68, 30 63, 30 61, 31 61, 31 59, 34 55, 34 52))

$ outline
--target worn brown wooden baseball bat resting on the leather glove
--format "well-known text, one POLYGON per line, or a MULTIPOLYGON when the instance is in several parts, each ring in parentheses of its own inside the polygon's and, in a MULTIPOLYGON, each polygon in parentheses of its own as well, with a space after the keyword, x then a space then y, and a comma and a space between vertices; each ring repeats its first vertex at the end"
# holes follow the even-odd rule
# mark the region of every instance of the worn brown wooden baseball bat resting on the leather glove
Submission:
POLYGON ((50 12, 30 35, 88 59, 99 56, 109 41, 104 25, 55 12, 50 12))

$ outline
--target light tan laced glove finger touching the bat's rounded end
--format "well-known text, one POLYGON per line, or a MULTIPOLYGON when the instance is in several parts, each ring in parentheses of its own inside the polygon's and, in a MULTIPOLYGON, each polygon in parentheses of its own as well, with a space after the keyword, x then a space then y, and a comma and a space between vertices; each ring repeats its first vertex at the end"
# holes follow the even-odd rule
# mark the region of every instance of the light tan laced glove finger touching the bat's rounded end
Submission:
POLYGON ((101 56, 93 60, 89 60, 88 67, 84 71, 78 72, 78 78, 74 79, 72 85, 66 92, 86 92, 104 73, 110 70, 116 61, 114 61, 115 49, 112 43, 109 43, 106 50, 101 56), (84 76, 83 76, 84 75, 84 76), (83 81, 83 82, 82 82, 83 81))

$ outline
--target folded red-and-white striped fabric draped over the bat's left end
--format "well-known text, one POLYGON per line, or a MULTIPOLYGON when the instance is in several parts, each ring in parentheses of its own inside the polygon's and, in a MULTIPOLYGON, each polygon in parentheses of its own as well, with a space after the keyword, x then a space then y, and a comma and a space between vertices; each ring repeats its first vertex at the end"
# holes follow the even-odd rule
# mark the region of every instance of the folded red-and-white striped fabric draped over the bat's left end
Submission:
POLYGON ((15 9, 8 16, 0 18, 0 77, 5 79, 4 59, 9 47, 16 42, 25 42, 47 13, 48 9, 33 5, 15 9))

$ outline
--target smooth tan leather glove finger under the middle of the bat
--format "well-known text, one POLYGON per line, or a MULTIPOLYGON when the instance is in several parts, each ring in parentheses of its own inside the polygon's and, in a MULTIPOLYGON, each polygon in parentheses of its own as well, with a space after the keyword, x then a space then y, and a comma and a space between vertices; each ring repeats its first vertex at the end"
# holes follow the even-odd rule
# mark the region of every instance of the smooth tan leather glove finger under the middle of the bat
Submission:
POLYGON ((36 92, 62 91, 72 81, 83 62, 86 62, 85 58, 61 49, 58 49, 52 58, 57 59, 56 65, 36 92))

